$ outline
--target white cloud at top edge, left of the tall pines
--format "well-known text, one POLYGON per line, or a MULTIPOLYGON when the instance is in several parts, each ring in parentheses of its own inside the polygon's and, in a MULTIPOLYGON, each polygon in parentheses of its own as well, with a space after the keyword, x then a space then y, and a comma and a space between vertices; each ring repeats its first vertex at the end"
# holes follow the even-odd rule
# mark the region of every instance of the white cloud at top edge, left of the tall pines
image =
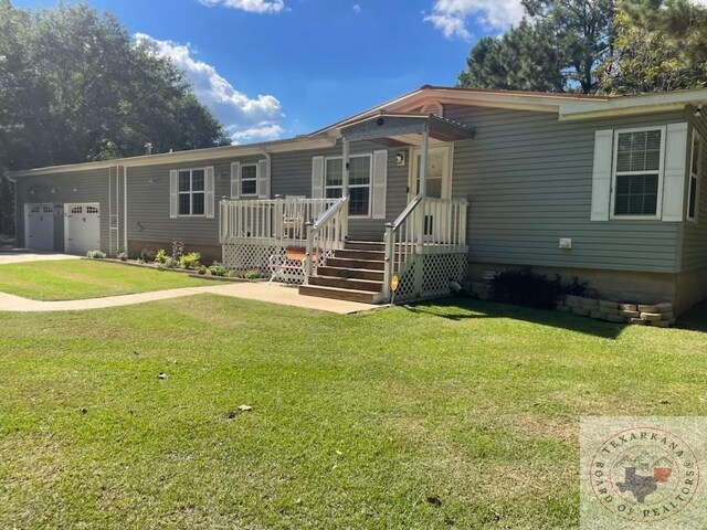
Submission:
POLYGON ((503 30, 520 21, 523 13, 520 0, 436 0, 424 21, 431 22, 447 39, 469 40, 468 18, 476 18, 489 29, 503 30))

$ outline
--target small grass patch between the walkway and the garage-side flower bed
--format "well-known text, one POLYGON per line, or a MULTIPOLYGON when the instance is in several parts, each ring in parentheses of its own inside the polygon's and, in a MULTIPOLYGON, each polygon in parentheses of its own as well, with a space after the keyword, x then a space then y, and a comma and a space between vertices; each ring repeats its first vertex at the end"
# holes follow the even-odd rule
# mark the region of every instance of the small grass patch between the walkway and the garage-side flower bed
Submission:
POLYGON ((0 265, 0 293, 36 300, 76 300, 198 285, 213 283, 186 274, 88 259, 0 265))

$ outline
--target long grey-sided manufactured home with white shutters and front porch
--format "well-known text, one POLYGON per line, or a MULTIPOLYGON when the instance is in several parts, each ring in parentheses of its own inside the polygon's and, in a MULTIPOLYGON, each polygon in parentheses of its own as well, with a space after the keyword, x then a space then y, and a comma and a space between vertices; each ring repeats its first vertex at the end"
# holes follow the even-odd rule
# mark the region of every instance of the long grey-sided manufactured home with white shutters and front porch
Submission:
POLYGON ((361 301, 393 275, 412 300, 531 266, 679 312, 707 296, 706 113, 707 89, 423 86, 288 140, 18 171, 18 240, 136 255, 177 239, 361 301))

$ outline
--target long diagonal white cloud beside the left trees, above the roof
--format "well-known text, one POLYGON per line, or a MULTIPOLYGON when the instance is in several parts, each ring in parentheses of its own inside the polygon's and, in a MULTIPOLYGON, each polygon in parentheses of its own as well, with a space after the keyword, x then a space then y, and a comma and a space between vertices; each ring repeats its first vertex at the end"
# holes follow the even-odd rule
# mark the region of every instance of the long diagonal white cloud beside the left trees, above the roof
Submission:
POLYGON ((234 140, 275 139, 283 132, 279 123, 284 115, 275 96, 252 98, 236 91, 211 64, 196 60, 188 44, 160 41, 145 33, 136 33, 135 40, 151 46, 158 55, 169 57, 184 72, 199 100, 213 112, 234 140))

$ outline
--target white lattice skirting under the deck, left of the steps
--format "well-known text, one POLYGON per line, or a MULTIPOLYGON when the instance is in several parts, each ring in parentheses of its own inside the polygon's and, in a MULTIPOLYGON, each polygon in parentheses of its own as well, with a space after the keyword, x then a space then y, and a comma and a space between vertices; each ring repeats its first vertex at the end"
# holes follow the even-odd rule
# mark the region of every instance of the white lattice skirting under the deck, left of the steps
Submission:
MULTIPOLYGON (((235 273, 258 269, 266 275, 272 275, 270 269, 271 256, 282 256, 285 265, 277 276, 277 282, 285 284, 303 284, 305 272, 302 262, 298 259, 285 259, 286 250, 284 246, 261 246, 261 245, 222 245, 223 266, 235 273)), ((326 262, 327 255, 313 263, 313 273, 316 274, 317 266, 326 262)))

